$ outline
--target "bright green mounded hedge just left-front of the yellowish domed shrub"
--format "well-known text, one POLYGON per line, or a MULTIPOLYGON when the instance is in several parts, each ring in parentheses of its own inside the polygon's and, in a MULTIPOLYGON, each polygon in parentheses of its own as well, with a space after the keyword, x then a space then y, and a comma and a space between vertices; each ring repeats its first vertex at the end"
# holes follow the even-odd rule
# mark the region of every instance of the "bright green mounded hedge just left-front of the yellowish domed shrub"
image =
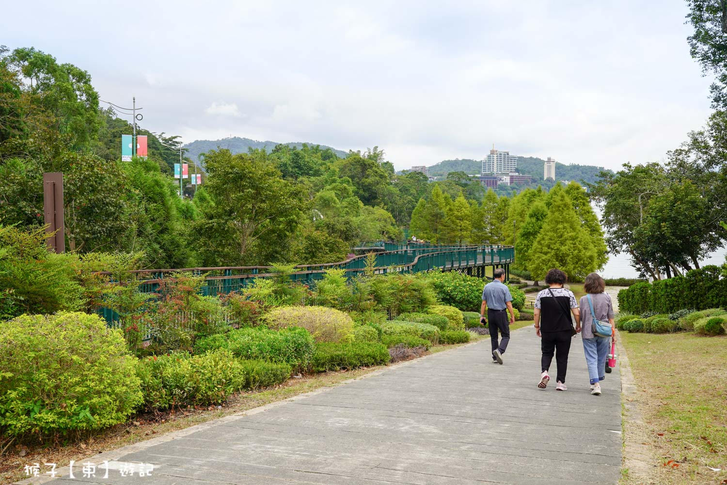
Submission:
POLYGON ((314 346, 308 330, 297 327, 279 331, 264 327, 237 329, 204 337, 195 344, 195 353, 217 349, 229 349, 235 356, 249 360, 284 362, 301 371, 310 366, 314 346))

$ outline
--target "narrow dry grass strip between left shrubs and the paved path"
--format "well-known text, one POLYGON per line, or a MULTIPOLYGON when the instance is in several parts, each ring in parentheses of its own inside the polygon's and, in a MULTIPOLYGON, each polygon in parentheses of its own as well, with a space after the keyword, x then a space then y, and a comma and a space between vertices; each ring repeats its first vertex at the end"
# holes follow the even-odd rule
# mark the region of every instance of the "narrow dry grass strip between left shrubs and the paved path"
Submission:
MULTIPOLYGON (((516 322, 520 323, 520 322, 516 322)), ((527 322, 525 322, 527 323, 527 322)), ((237 416, 250 412, 260 412, 268 406, 288 401, 289 399, 307 396, 312 393, 324 392, 339 385, 345 385, 358 379, 364 379, 393 369, 397 366, 407 365, 435 353, 454 350, 455 348, 473 345, 483 339, 489 339, 489 335, 471 334, 468 343, 453 345, 433 345, 424 355, 400 361, 387 366, 362 367, 348 371, 321 372, 297 378, 292 377, 281 385, 262 390, 244 391, 235 393, 224 406, 209 406, 205 409, 181 409, 176 412, 164 412, 153 417, 150 414, 133 416, 128 422, 116 425, 95 436, 77 441, 65 446, 51 446, 44 449, 42 446, 25 447, 26 454, 20 457, 17 452, 12 455, 3 455, 0 461, 0 484, 41 484, 52 480, 51 476, 39 476, 28 478, 23 472, 25 465, 33 463, 56 463, 57 473, 61 474, 60 468, 67 467, 70 460, 80 464, 86 460, 115 460, 116 452, 124 446, 139 444, 151 439, 168 441, 176 436, 184 436, 193 433, 199 426, 213 420, 224 419, 225 417, 237 416), (158 435, 158 436, 156 436, 158 435)), ((76 465, 78 466, 78 465, 76 465)), ((65 473, 64 473, 65 474, 65 473)))

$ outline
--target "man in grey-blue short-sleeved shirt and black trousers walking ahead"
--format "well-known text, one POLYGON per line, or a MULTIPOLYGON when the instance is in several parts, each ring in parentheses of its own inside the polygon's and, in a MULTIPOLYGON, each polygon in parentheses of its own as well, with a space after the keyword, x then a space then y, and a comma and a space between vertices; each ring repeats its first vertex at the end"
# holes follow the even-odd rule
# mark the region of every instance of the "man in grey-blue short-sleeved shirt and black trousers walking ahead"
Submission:
POLYGON ((489 320, 492 363, 502 364, 502 354, 507 349, 507 342, 510 342, 510 324, 515 323, 515 310, 513 310, 513 295, 504 283, 505 270, 497 268, 492 276, 494 276, 492 282, 486 284, 482 290, 480 321, 486 324, 489 320), (487 308, 487 318, 485 318, 485 308, 487 308), (506 308, 510 310, 510 321, 507 321, 506 308), (502 334, 501 341, 497 340, 498 331, 502 334))

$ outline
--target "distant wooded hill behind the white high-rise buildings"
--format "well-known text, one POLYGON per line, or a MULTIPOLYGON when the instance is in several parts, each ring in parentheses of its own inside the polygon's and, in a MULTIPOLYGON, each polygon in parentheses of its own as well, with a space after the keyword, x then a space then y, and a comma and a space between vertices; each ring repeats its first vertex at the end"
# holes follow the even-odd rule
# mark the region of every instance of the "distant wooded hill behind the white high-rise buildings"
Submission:
MULTIPOLYGON (((518 172, 523 175, 530 175, 534 182, 543 180, 543 164, 545 160, 533 156, 518 156, 518 172)), ((434 164, 427 168, 427 174, 430 177, 446 178, 449 172, 465 172, 468 175, 480 173, 482 169, 481 160, 471 159, 454 159, 443 160, 438 164, 434 164)), ((555 162, 555 177, 558 180, 576 180, 580 182, 585 180, 588 183, 594 183, 598 179, 598 173, 603 167, 594 167, 593 165, 566 165, 555 162)))

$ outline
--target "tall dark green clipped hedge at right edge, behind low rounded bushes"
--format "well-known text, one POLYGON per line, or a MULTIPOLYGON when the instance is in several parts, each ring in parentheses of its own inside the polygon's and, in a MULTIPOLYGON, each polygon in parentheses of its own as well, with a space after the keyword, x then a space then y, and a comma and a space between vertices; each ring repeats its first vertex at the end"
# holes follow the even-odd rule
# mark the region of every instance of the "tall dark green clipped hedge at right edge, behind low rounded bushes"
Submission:
POLYGON ((683 308, 723 306, 727 306, 727 278, 715 265, 688 271, 686 276, 637 283, 619 292, 619 308, 632 313, 674 313, 683 308))

